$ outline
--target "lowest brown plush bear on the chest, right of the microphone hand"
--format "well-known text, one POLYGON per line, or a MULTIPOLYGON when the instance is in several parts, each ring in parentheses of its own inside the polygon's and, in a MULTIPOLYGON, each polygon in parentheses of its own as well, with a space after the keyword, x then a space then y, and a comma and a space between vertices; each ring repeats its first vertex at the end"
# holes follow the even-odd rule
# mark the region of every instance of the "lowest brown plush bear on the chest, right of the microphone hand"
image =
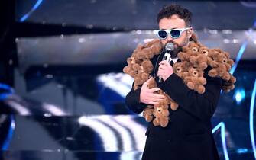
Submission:
POLYGON ((199 94, 203 94, 206 89, 203 85, 206 85, 206 78, 203 77, 203 71, 190 67, 189 74, 184 78, 184 82, 188 88, 197 91, 199 94))

